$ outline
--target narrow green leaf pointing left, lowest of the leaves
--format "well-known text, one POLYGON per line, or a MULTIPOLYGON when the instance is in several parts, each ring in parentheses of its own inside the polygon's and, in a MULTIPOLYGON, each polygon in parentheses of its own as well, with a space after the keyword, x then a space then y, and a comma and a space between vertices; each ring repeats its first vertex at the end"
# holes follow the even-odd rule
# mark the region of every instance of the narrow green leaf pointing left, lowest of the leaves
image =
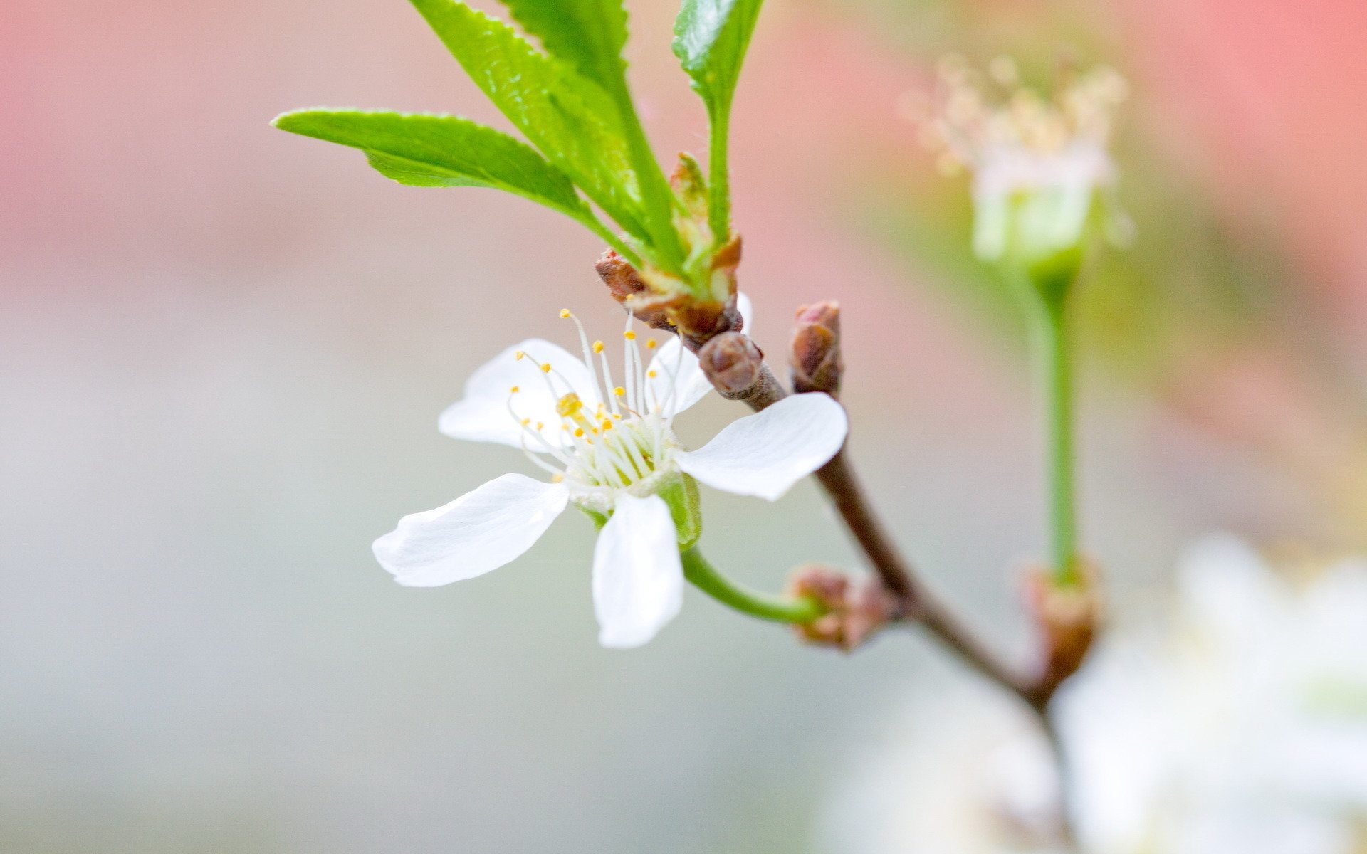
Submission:
POLYGON ((299 109, 280 130, 365 152, 381 175, 416 187, 493 187, 577 220, 592 216, 574 184, 528 145, 457 116, 358 109, 299 109))

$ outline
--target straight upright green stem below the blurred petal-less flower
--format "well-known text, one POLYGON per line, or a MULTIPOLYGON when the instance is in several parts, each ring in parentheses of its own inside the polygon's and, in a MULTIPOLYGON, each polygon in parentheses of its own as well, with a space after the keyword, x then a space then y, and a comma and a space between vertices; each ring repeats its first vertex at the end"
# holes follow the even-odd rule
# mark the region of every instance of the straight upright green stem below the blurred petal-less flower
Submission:
POLYGON ((1077 499, 1073 448, 1073 354, 1068 299, 1040 299, 1035 313, 1044 385, 1044 425, 1048 440, 1050 556, 1054 582, 1076 585, 1077 499))

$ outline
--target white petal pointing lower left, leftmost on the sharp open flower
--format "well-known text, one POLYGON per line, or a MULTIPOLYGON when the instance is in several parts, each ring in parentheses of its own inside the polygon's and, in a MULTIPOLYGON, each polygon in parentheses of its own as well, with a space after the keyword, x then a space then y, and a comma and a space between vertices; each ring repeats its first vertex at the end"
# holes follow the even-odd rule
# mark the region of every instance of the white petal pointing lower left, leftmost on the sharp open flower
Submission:
POLYGON ((444 507, 403 516, 375 541, 375 557, 407 588, 474 578, 532 548, 569 496, 563 484, 504 474, 444 507))

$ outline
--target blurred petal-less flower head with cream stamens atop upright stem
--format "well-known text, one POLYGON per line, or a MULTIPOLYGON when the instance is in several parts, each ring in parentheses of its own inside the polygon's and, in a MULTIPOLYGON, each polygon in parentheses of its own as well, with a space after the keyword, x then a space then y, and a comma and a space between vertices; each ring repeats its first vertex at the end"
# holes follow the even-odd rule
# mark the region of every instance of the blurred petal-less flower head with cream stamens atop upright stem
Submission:
MULTIPOLYGON (((1020 253, 1031 260, 1076 247, 1098 191, 1111 201, 1115 167, 1107 153, 1111 112, 1125 79, 1095 68, 1046 101, 1017 87, 1014 66, 998 57, 991 77, 1016 87, 1001 104, 958 59, 940 64, 939 105, 928 131, 943 148, 942 165, 973 175, 973 250, 987 261, 1020 253)), ((1129 221, 1109 205, 1103 220, 1115 242, 1129 221)))

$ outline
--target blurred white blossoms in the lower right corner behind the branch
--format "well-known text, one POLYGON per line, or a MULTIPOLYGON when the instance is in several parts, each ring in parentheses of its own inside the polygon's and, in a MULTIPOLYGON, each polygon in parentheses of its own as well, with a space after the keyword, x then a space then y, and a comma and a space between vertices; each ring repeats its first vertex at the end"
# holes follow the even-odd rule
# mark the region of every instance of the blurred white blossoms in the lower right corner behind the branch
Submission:
MULTIPOLYGON (((1229 534, 1192 545, 1173 612, 1114 633, 1055 700, 1084 850, 1360 853, 1363 649, 1367 560, 1270 564, 1229 534)), ((969 723, 947 704, 884 745, 837 799, 834 851, 1058 850, 1039 734, 1018 709, 969 702, 969 723)))

